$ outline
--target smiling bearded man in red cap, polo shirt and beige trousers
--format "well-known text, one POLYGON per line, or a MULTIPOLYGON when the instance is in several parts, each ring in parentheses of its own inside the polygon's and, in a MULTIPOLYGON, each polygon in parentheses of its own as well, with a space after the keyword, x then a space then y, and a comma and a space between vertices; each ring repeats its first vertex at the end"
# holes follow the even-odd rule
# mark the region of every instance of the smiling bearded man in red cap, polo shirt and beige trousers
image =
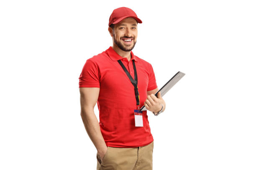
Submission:
POLYGON ((108 31, 113 47, 89 58, 79 77, 81 117, 97 148, 97 170, 152 170, 154 139, 147 110, 165 102, 150 63, 131 51, 142 21, 127 7, 113 10, 108 31), (97 106, 100 122, 94 113, 97 106), (139 112, 145 105, 146 111, 139 112))

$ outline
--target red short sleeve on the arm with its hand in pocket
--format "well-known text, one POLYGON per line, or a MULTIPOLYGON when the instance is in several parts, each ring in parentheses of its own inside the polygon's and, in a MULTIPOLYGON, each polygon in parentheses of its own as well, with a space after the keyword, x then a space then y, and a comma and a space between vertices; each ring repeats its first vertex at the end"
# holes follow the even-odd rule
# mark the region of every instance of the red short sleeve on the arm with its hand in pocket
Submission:
POLYGON ((79 88, 80 87, 99 87, 100 78, 99 69, 95 62, 86 60, 82 72, 79 76, 79 88))

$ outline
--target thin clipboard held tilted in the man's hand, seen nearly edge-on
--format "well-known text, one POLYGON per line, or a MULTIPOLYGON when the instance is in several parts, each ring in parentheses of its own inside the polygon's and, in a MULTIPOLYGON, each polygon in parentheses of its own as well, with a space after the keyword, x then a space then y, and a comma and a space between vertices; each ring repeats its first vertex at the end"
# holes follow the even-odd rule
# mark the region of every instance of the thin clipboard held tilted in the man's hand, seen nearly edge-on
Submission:
MULTIPOLYGON (((163 97, 166 92, 168 92, 185 74, 183 72, 177 72, 168 82, 165 83, 163 87, 161 87, 160 90, 158 90, 155 94, 157 97, 157 93, 161 92, 161 97, 163 97)), ((145 105, 143 105, 140 109, 140 111, 147 110, 145 105)))

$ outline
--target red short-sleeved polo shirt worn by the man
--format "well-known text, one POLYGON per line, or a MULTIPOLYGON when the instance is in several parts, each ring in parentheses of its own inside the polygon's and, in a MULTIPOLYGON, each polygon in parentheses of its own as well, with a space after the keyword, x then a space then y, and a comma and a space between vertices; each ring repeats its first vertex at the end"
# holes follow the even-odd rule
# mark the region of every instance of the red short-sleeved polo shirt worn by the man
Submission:
MULTIPOLYGON (((99 87, 97 100, 100 130, 107 146, 133 148, 153 142, 147 111, 143 111, 143 127, 135 127, 136 98, 134 86, 117 60, 120 60, 134 79, 135 60, 138 75, 140 107, 144 105, 147 91, 157 88, 153 67, 133 55, 123 58, 110 46, 108 50, 86 60, 79 77, 79 87, 99 87)), ((150 112, 151 113, 151 112, 150 112)))

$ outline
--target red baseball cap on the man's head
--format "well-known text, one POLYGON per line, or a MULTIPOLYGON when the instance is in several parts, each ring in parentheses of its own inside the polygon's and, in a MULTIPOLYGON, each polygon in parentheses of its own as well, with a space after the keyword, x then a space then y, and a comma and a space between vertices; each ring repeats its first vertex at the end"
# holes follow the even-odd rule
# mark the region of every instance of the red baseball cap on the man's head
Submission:
POLYGON ((119 23, 121 20, 128 17, 136 19, 138 23, 142 23, 133 10, 128 7, 119 7, 113 10, 112 14, 110 15, 108 26, 119 23))

